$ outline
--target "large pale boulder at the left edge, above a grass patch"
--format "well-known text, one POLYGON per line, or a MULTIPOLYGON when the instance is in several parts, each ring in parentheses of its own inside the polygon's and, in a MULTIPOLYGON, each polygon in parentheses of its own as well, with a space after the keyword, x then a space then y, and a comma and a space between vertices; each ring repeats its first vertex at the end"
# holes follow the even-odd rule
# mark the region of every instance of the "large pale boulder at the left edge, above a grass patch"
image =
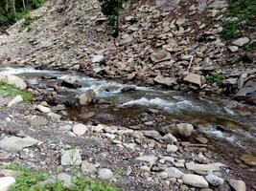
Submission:
POLYGON ((0 81, 15 86, 20 90, 25 90, 27 88, 27 84, 23 81, 23 79, 12 74, 7 74, 5 72, 0 73, 0 81))

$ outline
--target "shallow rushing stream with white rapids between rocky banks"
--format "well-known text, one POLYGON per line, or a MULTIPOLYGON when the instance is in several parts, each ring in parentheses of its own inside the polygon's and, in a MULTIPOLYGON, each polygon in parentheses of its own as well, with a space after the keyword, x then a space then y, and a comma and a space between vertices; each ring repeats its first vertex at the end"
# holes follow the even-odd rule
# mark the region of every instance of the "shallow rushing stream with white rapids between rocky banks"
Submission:
POLYGON ((175 118, 197 124, 200 127, 198 133, 217 142, 222 154, 233 154, 231 158, 239 158, 246 154, 253 160, 252 162, 256 162, 256 110, 252 106, 240 106, 221 97, 186 96, 179 92, 154 90, 150 87, 136 86, 135 90, 122 92, 122 89, 128 85, 82 74, 12 68, 4 68, 0 71, 21 76, 35 86, 45 84, 49 92, 54 91, 49 84, 60 82, 66 75, 76 76, 82 87, 65 89, 58 94, 59 100, 66 102, 92 89, 97 93, 97 98, 115 104, 105 108, 87 107, 85 110, 71 107, 68 108, 70 117, 81 119, 82 113, 94 111, 122 120, 127 116, 137 117, 146 110, 154 109, 167 119, 175 118))

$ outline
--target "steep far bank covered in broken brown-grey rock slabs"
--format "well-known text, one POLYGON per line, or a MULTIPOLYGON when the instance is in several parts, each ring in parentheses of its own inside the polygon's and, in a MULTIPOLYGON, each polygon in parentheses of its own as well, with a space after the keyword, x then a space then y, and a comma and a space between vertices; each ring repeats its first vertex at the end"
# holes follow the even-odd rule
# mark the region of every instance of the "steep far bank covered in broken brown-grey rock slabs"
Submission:
POLYGON ((225 41, 226 1, 131 1, 120 37, 105 35, 98 2, 49 1, 0 36, 0 61, 12 67, 75 71, 125 83, 255 103, 255 33, 225 41), (196 21, 196 22, 195 22, 196 21))

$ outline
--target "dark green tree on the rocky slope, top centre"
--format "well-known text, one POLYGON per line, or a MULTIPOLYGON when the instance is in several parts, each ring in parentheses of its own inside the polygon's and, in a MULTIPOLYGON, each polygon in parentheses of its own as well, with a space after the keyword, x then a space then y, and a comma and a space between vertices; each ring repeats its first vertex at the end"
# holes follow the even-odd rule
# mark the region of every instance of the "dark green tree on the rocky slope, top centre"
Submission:
POLYGON ((101 4, 102 12, 107 16, 107 32, 115 37, 119 31, 119 13, 123 4, 127 0, 98 0, 101 4))

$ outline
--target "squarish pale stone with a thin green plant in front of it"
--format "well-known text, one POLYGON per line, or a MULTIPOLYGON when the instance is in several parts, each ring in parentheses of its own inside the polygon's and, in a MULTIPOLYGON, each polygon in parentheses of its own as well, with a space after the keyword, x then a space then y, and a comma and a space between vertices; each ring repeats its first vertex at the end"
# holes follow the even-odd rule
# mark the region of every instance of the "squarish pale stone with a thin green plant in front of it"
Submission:
POLYGON ((79 149, 66 150, 61 154, 61 165, 81 165, 81 154, 79 149))

